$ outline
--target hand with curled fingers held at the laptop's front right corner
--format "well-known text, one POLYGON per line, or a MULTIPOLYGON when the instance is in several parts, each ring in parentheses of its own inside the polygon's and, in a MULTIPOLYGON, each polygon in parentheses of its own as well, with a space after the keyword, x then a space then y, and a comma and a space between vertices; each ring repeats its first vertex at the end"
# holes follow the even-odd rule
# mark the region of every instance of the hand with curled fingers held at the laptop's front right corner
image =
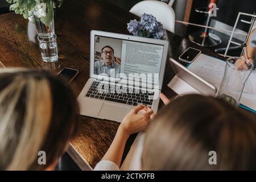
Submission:
POLYGON ((153 110, 150 107, 138 105, 123 118, 119 127, 128 135, 144 131, 150 123, 152 114, 153 110))

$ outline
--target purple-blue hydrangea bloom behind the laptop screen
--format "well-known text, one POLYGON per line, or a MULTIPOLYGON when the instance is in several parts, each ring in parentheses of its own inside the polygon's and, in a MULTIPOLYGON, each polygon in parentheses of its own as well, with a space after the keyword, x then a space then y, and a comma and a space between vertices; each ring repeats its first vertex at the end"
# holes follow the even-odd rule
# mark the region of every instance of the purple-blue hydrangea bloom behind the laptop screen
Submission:
POLYGON ((127 23, 127 30, 135 36, 162 39, 164 35, 163 24, 158 22, 153 15, 143 14, 141 20, 131 20, 127 23))

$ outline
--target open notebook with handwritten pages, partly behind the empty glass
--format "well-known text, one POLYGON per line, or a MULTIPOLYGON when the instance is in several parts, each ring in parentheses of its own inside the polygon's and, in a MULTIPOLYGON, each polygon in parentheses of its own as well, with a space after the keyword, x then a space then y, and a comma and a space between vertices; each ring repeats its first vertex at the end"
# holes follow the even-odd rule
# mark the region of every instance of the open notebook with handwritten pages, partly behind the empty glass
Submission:
MULTIPOLYGON (((217 89, 225 72, 225 61, 200 54, 193 63, 188 65, 188 69, 196 75, 214 85, 217 89)), ((245 83, 242 97, 240 100, 241 107, 256 112, 256 71, 254 70, 245 83)))

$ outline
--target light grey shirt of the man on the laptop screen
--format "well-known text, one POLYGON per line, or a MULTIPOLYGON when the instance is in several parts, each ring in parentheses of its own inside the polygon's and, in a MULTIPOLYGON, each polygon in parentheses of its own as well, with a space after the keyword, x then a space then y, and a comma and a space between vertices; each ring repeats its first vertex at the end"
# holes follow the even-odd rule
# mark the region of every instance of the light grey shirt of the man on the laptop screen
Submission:
POLYGON ((113 63, 108 67, 103 60, 94 62, 94 75, 100 75, 101 73, 105 73, 108 76, 115 71, 115 76, 120 73, 120 65, 118 63, 113 63))

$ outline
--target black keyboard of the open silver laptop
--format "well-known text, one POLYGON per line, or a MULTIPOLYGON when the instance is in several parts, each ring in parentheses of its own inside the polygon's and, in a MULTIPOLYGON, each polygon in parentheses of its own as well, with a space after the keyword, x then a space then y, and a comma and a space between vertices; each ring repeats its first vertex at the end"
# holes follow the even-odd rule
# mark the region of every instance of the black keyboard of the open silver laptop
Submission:
POLYGON ((85 97, 96 98, 105 101, 113 101, 127 105, 139 104, 152 106, 154 92, 146 89, 123 87, 120 84, 109 83, 107 86, 101 82, 93 81, 85 97), (108 87, 108 88, 105 88, 108 87))

